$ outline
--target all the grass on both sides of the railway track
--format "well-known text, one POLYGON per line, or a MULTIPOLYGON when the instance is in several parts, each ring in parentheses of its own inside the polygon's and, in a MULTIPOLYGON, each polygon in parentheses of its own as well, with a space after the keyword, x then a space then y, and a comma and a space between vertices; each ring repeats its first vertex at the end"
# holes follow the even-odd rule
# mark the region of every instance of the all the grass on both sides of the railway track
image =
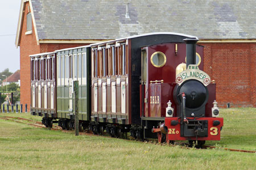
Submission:
MULTIPOLYGON (((30 118, 30 114, 0 116, 30 118)), ((218 146, 255 148, 256 109, 221 109, 218 146), (250 121, 252 120, 252 121, 250 121), (238 125, 239 124, 239 125, 238 125)), ((41 117, 34 117, 39 118, 41 117)), ((63 133, 0 120, 0 169, 254 169, 256 154, 63 133)))

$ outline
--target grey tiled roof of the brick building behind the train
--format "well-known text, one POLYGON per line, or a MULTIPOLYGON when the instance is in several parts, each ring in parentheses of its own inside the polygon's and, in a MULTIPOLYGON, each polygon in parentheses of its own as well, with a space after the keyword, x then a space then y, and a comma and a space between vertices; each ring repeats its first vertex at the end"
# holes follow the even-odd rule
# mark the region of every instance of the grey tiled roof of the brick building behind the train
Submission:
POLYGON ((31 2, 39 40, 118 39, 162 31, 204 40, 256 39, 256 1, 251 0, 31 2))

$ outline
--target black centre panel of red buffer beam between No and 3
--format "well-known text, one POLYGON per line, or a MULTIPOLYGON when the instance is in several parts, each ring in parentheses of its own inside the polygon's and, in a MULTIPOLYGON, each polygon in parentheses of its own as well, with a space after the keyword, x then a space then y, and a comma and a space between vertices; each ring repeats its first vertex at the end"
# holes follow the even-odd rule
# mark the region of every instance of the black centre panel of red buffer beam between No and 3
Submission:
POLYGON ((181 124, 181 137, 208 137, 207 120, 188 120, 188 124, 181 124))

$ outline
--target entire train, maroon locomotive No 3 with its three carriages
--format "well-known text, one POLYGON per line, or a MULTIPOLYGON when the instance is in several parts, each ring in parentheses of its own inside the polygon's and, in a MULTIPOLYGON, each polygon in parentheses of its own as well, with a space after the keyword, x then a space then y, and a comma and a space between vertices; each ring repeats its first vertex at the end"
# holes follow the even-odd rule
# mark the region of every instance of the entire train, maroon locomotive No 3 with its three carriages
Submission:
POLYGON ((202 71, 198 40, 148 33, 32 55, 31 114, 47 127, 74 128, 78 80, 80 130, 199 147, 220 140, 216 84, 202 71))

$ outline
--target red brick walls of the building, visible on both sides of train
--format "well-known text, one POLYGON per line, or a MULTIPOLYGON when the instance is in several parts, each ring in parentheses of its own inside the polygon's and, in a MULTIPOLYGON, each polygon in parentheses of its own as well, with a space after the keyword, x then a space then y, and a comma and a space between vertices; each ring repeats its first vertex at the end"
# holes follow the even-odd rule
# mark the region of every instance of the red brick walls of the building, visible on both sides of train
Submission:
MULTIPOLYGON (((24 12, 20 37, 20 103, 28 104, 30 111, 30 55, 53 52, 86 44, 36 43, 34 27, 27 29, 27 8, 24 12)), ((204 70, 216 80, 216 99, 220 107, 256 107, 256 43, 201 43, 204 45, 204 70)), ((23 107, 24 112, 24 107, 23 107)))

